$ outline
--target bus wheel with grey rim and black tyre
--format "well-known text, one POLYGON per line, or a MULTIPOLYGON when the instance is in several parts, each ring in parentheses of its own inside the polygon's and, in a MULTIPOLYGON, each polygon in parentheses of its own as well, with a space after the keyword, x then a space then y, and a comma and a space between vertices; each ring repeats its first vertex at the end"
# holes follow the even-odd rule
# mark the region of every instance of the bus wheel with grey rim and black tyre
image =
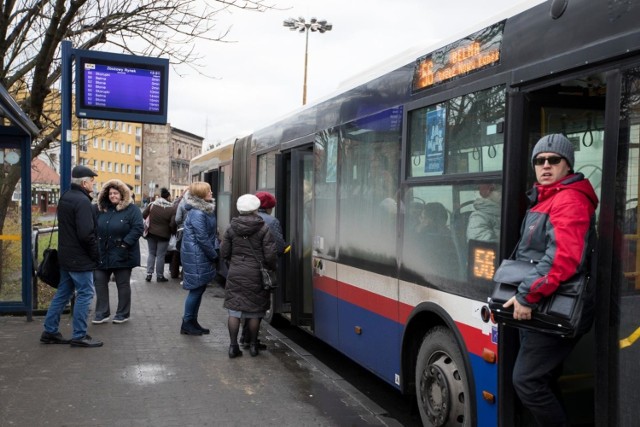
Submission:
POLYGON ((462 354, 447 328, 433 328, 422 341, 416 362, 416 396, 425 426, 462 426, 471 419, 462 354))

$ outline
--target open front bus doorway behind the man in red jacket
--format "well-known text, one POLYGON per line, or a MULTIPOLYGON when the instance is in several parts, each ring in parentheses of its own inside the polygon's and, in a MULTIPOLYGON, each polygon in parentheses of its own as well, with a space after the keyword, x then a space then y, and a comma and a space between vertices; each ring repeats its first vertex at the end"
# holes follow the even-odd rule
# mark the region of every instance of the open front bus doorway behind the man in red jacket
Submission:
MULTIPOLYGON (((520 234, 520 221, 527 207, 524 193, 536 180, 531 166, 531 150, 540 137, 551 133, 562 133, 567 136, 575 149, 574 171, 584 174, 585 178, 589 179, 598 198, 601 199, 608 114, 607 94, 607 76, 602 72, 538 85, 516 93, 510 99, 512 122, 511 153, 508 155, 508 161, 518 162, 523 167, 505 170, 505 181, 509 183, 507 200, 517 202, 507 203, 507 210, 510 212, 505 216, 506 232, 504 234, 511 237, 506 237, 503 242, 503 256, 508 256, 513 250, 517 236, 520 234), (522 120, 520 123, 518 123, 519 118, 522 120)), ((601 218, 602 209, 600 204, 596 211, 598 221, 601 218)), ((594 271, 597 268, 599 266, 596 266, 594 271)), ((511 372, 517 346, 512 344, 518 341, 518 334, 516 331, 502 328, 500 338, 502 372, 500 393, 502 396, 512 397, 511 410, 513 410, 517 403, 511 390, 511 372)), ((595 343, 595 333, 592 329, 580 340, 574 352, 566 360, 559 380, 571 425, 593 425, 594 422, 595 413, 592 403, 596 369, 595 343)), ((510 410, 507 409, 507 411, 510 410)), ((521 409, 516 409, 510 415, 515 417, 515 425, 527 425, 525 420, 530 418, 521 409)), ((503 414, 501 418, 509 419, 509 416, 503 414)))

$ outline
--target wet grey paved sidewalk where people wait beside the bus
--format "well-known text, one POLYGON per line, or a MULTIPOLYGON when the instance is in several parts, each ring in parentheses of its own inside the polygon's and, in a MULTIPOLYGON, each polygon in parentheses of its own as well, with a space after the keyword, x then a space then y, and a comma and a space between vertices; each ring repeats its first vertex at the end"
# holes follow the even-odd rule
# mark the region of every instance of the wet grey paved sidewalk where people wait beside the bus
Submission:
POLYGON ((129 322, 89 326, 101 348, 40 344, 43 317, 0 317, 0 426, 399 425, 268 325, 268 350, 229 359, 219 287, 200 308, 211 334, 180 335, 186 291, 144 276, 134 269, 129 322))

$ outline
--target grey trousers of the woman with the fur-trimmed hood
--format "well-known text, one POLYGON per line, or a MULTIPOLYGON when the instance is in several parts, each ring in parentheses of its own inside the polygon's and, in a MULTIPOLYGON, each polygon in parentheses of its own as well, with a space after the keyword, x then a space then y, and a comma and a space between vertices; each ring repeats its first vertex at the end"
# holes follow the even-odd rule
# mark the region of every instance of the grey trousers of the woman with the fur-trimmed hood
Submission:
POLYGON ((131 269, 117 268, 111 270, 95 270, 93 272, 96 287, 96 318, 102 319, 111 315, 109 307, 109 278, 113 273, 118 288, 118 308, 116 316, 129 317, 131 310, 131 269))

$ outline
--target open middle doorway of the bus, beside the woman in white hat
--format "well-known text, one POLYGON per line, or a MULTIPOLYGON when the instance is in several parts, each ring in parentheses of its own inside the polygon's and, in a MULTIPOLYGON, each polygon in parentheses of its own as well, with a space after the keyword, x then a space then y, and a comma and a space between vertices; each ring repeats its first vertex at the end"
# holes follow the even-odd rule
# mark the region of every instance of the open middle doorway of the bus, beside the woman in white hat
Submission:
POLYGON ((310 331, 312 325, 312 201, 313 201, 313 147, 307 146, 291 152, 290 185, 284 200, 289 202, 285 240, 291 244, 285 299, 291 302, 291 323, 310 331))

